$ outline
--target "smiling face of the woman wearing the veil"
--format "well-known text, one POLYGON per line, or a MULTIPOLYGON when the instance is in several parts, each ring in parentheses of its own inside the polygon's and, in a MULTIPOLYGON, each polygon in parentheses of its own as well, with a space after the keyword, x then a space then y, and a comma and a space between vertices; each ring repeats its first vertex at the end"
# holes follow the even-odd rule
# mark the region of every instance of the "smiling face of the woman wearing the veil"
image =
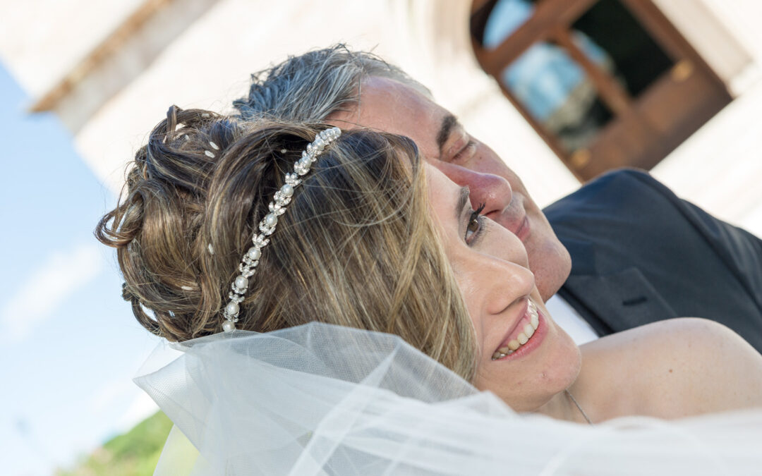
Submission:
POLYGON ((577 378, 574 341, 552 321, 506 228, 472 210, 468 188, 427 165, 431 206, 479 346, 474 384, 516 411, 533 411, 577 378))

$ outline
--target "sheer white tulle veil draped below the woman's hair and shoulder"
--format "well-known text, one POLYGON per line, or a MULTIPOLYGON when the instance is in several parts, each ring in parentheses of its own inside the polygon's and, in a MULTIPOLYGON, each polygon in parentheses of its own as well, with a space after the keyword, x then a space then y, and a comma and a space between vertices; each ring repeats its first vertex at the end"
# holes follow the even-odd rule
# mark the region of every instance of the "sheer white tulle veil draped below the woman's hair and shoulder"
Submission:
POLYGON ((520 415, 389 334, 312 323, 168 352, 135 379, 175 424, 155 474, 762 471, 762 410, 596 426, 520 415))

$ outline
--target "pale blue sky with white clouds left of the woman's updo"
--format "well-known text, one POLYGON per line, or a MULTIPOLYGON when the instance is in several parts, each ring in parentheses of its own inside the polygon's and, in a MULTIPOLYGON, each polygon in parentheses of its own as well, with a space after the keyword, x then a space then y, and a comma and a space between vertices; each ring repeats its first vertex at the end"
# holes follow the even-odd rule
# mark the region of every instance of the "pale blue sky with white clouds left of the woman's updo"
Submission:
POLYGON ((92 235, 116 196, 2 65, 0 104, 0 457, 4 474, 50 474, 151 410, 130 379, 158 340, 92 235))

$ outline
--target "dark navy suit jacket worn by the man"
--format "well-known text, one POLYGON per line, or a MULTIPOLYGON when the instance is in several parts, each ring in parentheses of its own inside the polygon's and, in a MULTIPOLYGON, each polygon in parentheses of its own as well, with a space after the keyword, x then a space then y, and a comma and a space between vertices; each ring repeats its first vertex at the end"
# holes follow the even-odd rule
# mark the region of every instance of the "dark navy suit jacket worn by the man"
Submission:
POLYGON ((559 295, 600 335, 692 316, 731 327, 762 352, 759 238, 632 169, 544 211, 571 254, 559 295))

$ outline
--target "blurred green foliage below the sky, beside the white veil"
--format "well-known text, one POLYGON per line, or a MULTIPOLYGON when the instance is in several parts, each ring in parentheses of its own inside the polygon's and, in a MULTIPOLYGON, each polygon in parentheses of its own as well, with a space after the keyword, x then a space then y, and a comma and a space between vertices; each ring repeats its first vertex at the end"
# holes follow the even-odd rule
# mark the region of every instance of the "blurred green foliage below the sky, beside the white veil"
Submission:
POLYGON ((132 430, 104 443, 72 471, 58 476, 150 476, 162 454, 172 422, 161 411, 142 420, 132 430))

